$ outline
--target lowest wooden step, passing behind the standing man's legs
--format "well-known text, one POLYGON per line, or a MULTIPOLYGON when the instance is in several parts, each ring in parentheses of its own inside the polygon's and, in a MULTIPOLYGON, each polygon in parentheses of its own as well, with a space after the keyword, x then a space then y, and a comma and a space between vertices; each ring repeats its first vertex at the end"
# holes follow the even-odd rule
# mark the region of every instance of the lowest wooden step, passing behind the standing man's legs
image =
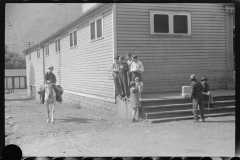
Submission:
MULTIPOLYGON (((219 107, 219 108, 205 108, 205 114, 212 113, 225 113, 235 111, 235 106, 228 107, 219 107)), ((161 118, 170 118, 170 117, 182 117, 192 115, 192 109, 188 110, 174 110, 174 111, 163 111, 163 112, 154 112, 154 113, 143 113, 146 115, 146 119, 161 119, 161 118)))

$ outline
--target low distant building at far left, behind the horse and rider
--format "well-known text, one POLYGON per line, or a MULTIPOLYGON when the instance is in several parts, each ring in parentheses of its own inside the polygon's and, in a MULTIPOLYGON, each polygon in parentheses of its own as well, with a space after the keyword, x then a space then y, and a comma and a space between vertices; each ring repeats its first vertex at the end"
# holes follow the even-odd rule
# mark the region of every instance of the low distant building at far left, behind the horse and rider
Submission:
POLYGON ((26 89, 26 69, 5 69, 5 89, 26 89))

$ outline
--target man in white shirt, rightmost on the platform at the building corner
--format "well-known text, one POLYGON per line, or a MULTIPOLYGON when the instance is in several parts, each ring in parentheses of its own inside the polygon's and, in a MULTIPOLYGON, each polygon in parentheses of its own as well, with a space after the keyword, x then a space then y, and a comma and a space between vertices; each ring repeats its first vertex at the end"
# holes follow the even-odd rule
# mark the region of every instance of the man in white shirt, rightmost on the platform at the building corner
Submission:
POLYGON ((136 77, 140 78, 142 81, 141 73, 144 72, 144 67, 142 62, 137 59, 137 55, 133 56, 133 62, 131 64, 131 72, 132 72, 132 81, 135 81, 136 77))

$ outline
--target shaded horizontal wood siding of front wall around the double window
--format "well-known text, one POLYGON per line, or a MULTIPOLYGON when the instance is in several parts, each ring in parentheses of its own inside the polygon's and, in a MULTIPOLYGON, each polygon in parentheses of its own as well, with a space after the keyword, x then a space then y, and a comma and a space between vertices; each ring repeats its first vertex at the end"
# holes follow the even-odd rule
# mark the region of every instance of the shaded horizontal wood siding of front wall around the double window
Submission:
POLYGON ((118 3, 117 54, 143 62, 144 93, 179 91, 190 75, 206 76, 211 89, 227 86, 226 17, 223 4, 118 3), (150 11, 191 13, 191 36, 150 35, 150 11))

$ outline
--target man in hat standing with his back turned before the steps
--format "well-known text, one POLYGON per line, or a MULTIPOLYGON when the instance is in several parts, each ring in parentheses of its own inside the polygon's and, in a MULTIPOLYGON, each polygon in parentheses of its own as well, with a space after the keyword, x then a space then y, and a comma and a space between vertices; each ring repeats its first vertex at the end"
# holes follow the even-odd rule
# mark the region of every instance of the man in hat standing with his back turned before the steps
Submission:
POLYGON ((200 82, 197 81, 197 77, 193 74, 190 76, 190 79, 192 81, 192 84, 190 85, 192 88, 191 91, 191 99, 193 102, 193 116, 194 116, 194 122, 198 122, 198 105, 199 105, 199 111, 200 111, 200 117, 202 119, 202 122, 205 121, 204 117, 204 104, 203 104, 203 86, 200 82))

